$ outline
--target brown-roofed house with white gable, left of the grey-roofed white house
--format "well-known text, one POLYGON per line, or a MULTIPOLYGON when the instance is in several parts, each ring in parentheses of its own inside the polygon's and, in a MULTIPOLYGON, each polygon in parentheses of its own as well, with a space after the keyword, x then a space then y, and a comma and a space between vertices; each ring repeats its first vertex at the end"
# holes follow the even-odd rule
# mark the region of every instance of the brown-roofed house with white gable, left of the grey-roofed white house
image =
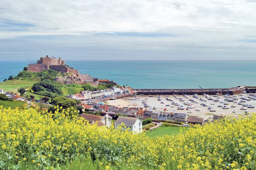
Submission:
POLYGON ((109 115, 97 116, 92 114, 83 113, 79 117, 83 117, 85 120, 88 120, 90 124, 97 123, 98 126, 111 126, 112 117, 109 115))

